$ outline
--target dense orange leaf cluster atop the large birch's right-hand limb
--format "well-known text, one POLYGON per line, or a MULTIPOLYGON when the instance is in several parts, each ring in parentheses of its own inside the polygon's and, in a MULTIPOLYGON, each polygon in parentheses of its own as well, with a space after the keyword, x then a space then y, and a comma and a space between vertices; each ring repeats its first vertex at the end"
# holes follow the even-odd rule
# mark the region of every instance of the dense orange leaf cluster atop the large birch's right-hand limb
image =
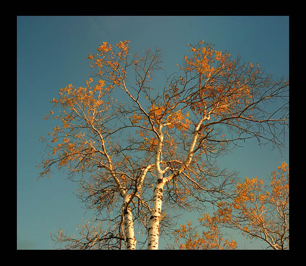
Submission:
MULTIPOLYGON (((216 117, 244 110, 260 83, 256 79, 258 70, 240 67, 239 58, 233 60, 227 51, 217 51, 204 41, 192 46, 190 52, 190 56, 184 57, 185 65, 180 68, 196 82, 190 104, 194 114, 205 116, 211 111, 211 115, 216 117)), ((181 76, 180 83, 186 86, 184 81, 181 76)))

